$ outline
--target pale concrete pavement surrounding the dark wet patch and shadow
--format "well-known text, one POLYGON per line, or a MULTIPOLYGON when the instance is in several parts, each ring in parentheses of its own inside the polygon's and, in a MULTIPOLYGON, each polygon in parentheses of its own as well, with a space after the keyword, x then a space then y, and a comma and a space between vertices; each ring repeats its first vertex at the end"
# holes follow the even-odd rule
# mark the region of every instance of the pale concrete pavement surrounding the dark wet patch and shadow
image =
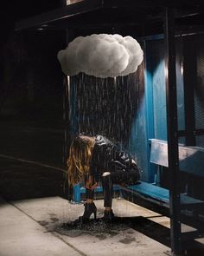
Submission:
MULTIPOLYGON (((96 200, 98 218, 103 201, 96 200)), ((169 219, 126 200, 113 201, 119 216, 138 217, 169 226, 169 219)), ((0 200, 0 256, 95 256, 167 255, 169 247, 130 226, 121 225, 112 233, 103 230, 63 230, 63 223, 76 220, 83 205, 72 205, 61 197, 0 200)), ((150 224, 149 224, 150 225, 150 224)))

